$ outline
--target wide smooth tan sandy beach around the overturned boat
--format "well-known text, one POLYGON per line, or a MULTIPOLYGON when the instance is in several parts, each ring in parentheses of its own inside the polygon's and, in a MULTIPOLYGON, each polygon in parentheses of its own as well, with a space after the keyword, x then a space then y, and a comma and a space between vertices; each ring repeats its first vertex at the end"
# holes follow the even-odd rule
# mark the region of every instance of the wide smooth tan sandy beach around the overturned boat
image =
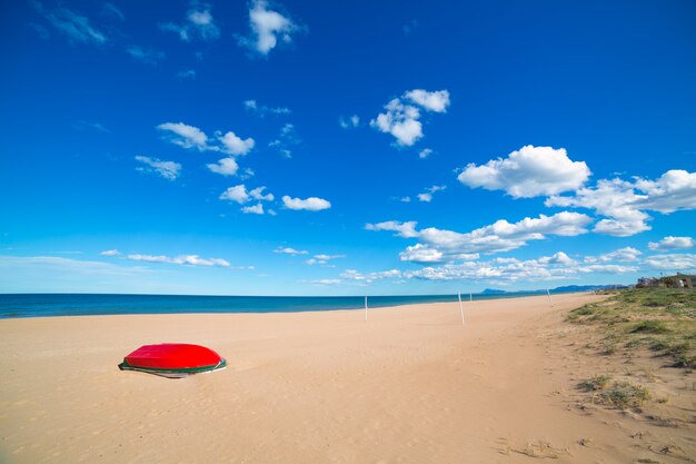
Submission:
POLYGON ((466 303, 465 326, 456 304, 371 309, 367 323, 360 310, 0 320, 0 462, 693 462, 693 374, 656 364, 648 385, 679 426, 583 403, 579 379, 628 368, 583 353, 564 320, 601 298, 466 303), (209 346, 229 367, 117 368, 163 342, 209 346))

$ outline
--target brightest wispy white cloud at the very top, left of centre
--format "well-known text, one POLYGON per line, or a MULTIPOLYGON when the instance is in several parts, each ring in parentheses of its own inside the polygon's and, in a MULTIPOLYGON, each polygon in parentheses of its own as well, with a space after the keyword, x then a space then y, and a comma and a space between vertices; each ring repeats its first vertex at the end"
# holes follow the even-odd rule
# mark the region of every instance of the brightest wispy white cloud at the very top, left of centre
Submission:
POLYGON ((292 34, 300 31, 289 17, 271 10, 265 0, 256 0, 249 9, 250 37, 239 38, 239 45, 261 56, 278 46, 278 40, 285 43, 292 41, 292 34))

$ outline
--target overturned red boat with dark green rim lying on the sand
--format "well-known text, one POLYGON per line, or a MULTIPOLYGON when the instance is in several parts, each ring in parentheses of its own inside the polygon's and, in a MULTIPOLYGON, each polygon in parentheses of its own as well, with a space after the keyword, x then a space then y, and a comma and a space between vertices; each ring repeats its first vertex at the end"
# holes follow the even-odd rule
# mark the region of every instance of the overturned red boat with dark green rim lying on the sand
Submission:
POLYGON ((183 343, 145 345, 123 358, 121 371, 140 371, 179 378, 225 368, 227 362, 210 348, 183 343))

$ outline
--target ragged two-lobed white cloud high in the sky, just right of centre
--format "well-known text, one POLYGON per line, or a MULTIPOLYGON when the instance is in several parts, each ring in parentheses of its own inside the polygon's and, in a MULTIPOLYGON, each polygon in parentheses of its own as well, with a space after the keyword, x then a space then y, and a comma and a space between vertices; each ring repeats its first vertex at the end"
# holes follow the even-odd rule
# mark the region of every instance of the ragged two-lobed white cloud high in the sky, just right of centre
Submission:
POLYGON ((447 90, 432 92, 422 89, 410 90, 385 105, 386 111, 377 115, 377 118, 370 121, 370 126, 394 136, 397 145, 410 147, 422 137, 419 108, 445 112, 447 106, 449 106, 447 90))

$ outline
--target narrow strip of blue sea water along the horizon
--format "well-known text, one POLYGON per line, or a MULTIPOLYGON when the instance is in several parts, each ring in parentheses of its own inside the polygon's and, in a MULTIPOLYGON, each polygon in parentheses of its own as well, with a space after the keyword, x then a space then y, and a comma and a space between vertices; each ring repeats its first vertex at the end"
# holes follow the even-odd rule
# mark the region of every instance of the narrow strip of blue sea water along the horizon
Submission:
MULTIPOLYGON (((474 300, 539 295, 520 292, 473 295, 474 300)), ((463 295, 467 300, 469 295, 463 295)), ((457 295, 370 296, 369 307, 456 302, 457 295)), ((105 294, 0 294, 0 318, 109 314, 298 313, 357 309, 361 296, 186 296, 105 294)))

